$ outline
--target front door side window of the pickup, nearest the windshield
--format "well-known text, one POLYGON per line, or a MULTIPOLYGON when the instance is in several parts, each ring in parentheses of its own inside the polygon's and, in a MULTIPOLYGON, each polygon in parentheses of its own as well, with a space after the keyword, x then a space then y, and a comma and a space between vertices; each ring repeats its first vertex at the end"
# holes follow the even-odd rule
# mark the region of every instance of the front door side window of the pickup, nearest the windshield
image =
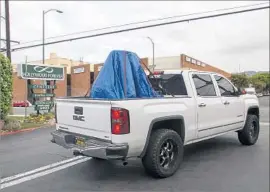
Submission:
POLYGON ((235 96, 235 89, 227 79, 215 75, 215 80, 217 81, 221 96, 235 96))

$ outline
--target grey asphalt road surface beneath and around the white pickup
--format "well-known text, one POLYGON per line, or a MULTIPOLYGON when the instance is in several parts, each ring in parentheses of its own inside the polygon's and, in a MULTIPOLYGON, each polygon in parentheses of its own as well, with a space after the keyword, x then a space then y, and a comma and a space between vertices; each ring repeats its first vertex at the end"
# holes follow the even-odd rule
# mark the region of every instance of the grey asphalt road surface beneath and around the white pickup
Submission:
MULTIPOLYGON (((145 174, 140 160, 127 166, 120 162, 76 163, 37 178, 6 187, 3 192, 77 191, 175 191, 268 192, 269 191, 269 97, 260 98, 261 132, 256 145, 242 146, 236 134, 185 147, 179 171, 166 179, 145 174)), ((72 158, 70 151, 50 143, 52 129, 4 136, 0 141, 2 178, 72 158)), ((77 161, 77 160, 76 160, 77 161)), ((56 168, 57 169, 57 168, 56 168)), ((47 170, 52 170, 48 168, 47 170)))

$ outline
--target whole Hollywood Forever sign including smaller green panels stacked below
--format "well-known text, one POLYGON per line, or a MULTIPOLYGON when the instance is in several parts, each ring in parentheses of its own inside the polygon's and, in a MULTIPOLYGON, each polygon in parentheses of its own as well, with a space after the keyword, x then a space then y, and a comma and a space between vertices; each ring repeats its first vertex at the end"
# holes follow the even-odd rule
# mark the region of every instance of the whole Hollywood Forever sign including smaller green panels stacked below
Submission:
POLYGON ((19 64, 17 66, 17 75, 22 79, 53 81, 53 85, 47 84, 30 84, 31 97, 37 114, 39 111, 50 111, 54 106, 53 98, 55 97, 56 81, 64 80, 64 67, 43 65, 43 64, 19 64), (34 89, 51 90, 49 93, 35 93, 34 89), (40 100, 41 98, 50 97, 50 100, 40 100))

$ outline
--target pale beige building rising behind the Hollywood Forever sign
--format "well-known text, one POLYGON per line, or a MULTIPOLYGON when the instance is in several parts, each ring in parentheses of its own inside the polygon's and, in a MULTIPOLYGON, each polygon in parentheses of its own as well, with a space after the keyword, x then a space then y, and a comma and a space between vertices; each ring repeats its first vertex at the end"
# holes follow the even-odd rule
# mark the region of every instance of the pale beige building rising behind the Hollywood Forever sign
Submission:
MULTIPOLYGON (((29 61, 29 63, 32 64, 40 64, 42 63, 42 60, 38 61, 29 61)), ((75 61, 72 59, 67 59, 63 57, 59 57, 56 53, 50 53, 50 57, 48 59, 45 59, 45 64, 47 65, 54 65, 54 66, 63 66, 67 68, 67 74, 71 73, 71 67, 79 66, 79 65, 90 65, 88 62, 83 61, 75 61)), ((91 71, 94 71, 94 66, 90 65, 91 71)), ((17 65, 13 65, 13 71, 17 71, 17 65)))

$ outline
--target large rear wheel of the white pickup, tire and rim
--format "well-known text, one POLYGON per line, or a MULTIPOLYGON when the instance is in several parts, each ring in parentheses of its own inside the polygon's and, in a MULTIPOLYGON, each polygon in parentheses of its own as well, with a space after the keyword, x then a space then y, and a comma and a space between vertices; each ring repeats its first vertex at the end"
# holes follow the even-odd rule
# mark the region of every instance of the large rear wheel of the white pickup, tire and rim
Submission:
POLYGON ((157 178, 172 176, 183 160, 183 142, 173 130, 158 129, 150 137, 143 166, 148 174, 157 178))

